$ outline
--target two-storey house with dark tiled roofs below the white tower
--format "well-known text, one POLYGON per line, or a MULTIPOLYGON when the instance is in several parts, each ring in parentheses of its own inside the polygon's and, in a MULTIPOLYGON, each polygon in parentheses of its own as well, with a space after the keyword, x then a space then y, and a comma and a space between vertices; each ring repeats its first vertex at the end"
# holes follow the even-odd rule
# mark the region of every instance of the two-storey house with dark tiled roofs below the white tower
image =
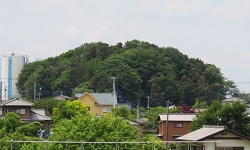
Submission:
POLYGON ((8 112, 15 112, 24 123, 42 123, 46 133, 48 133, 52 118, 45 115, 44 109, 32 109, 33 106, 33 103, 18 98, 4 101, 0 104, 0 118, 4 117, 8 112))

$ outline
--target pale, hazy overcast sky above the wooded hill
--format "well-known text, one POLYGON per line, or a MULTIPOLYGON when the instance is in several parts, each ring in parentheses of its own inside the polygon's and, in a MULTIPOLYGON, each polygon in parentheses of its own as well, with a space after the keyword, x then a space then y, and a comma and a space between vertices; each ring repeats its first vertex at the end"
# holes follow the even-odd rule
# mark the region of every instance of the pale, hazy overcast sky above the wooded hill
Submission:
POLYGON ((137 39, 214 64, 250 93, 249 0, 0 0, 0 54, 54 57, 137 39))

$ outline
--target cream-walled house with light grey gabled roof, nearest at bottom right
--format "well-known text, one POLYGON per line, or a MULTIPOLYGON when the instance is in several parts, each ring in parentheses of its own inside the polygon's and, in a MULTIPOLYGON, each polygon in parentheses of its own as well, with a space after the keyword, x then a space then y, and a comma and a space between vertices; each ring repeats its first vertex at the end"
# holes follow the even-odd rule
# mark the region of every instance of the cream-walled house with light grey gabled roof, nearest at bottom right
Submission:
POLYGON ((178 137, 195 150, 250 150, 250 137, 229 130, 224 126, 203 128, 178 137))

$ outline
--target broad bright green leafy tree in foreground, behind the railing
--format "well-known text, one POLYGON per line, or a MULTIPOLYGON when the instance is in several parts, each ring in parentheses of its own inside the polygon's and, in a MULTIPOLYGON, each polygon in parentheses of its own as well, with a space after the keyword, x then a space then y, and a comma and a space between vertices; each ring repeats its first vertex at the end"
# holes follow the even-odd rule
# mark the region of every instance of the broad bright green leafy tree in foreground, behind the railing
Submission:
MULTIPOLYGON (((128 121, 120 117, 111 116, 84 116, 78 115, 74 118, 64 119, 55 124, 53 135, 50 140, 56 141, 87 141, 87 142, 115 142, 115 141, 136 141, 138 140, 137 129, 129 124, 128 121)), ((50 148, 58 149, 58 146, 65 145, 54 144, 50 148)), ((85 149, 112 149, 114 144, 91 144, 85 145, 85 149)), ((79 145, 71 144, 69 150, 75 150, 79 145)), ((120 145, 120 149, 133 148, 132 145, 120 145)))

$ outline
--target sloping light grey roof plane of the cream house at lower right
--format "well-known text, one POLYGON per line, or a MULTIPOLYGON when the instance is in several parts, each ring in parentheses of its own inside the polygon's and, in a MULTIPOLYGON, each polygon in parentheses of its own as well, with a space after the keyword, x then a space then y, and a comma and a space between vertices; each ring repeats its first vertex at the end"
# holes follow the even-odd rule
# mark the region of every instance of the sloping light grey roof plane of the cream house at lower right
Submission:
POLYGON ((223 130, 225 130, 224 126, 203 126, 203 128, 201 129, 178 137, 177 140, 199 141, 201 139, 204 139, 205 137, 208 137, 223 130))

